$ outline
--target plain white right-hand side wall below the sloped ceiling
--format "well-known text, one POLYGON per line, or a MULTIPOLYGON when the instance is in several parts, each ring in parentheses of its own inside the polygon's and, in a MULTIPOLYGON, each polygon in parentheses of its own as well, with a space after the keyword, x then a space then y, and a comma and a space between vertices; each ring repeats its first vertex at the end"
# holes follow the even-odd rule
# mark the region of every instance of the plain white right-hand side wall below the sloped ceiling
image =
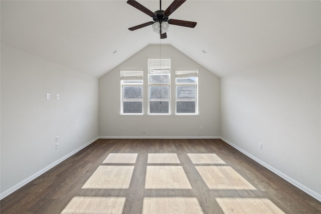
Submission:
POLYGON ((319 200, 320 70, 318 44, 221 79, 221 136, 319 200))

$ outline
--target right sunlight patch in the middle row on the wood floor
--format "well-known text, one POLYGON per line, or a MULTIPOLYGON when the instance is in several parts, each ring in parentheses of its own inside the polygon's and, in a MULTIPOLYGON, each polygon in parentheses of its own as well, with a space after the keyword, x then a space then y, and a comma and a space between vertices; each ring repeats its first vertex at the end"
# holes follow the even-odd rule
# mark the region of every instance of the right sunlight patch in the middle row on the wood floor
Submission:
POLYGON ((209 189, 256 190, 230 166, 196 166, 209 189))

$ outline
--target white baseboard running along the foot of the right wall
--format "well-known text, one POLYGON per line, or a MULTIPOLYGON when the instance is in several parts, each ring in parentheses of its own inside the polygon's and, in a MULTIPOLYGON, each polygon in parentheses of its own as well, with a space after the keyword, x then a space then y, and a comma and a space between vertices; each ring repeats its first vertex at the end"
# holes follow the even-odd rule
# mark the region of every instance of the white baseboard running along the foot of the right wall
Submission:
POLYGON ((253 159, 254 161, 258 162, 259 164, 261 164, 262 166, 264 166, 265 168, 269 169, 270 171, 274 172, 275 174, 277 174, 278 176, 280 176, 281 178, 283 178, 284 180, 288 181, 289 183, 293 184, 294 186, 296 186, 297 188, 301 189, 302 191, 304 191, 305 193, 311 195, 312 197, 314 197, 315 199, 317 199, 318 201, 321 201, 321 194, 313 191, 312 189, 306 187, 305 185, 303 185, 302 183, 294 180, 293 178, 287 176, 286 174, 284 174, 283 172, 280 172, 279 170, 277 170, 276 168, 270 166, 269 164, 263 162, 262 160, 258 159, 257 157, 251 155, 250 153, 248 153, 247 151, 243 150, 242 148, 238 147, 237 145, 231 143, 230 141, 228 141, 227 139, 224 139, 223 137, 221 137, 221 140, 223 140, 224 142, 226 142, 227 144, 231 145, 232 147, 234 147, 235 149, 239 150, 240 152, 242 152, 243 154, 245 154, 246 156, 250 157, 251 159, 253 159))

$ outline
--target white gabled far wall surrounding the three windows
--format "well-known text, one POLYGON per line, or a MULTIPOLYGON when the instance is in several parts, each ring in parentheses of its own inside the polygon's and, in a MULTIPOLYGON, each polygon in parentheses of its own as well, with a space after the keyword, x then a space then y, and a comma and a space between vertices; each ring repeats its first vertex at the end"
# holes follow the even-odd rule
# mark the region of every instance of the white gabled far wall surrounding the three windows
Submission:
POLYGON ((172 115, 147 116, 147 59, 159 58, 159 45, 149 45, 99 79, 101 137, 216 137, 220 136, 220 78, 169 45, 162 58, 171 58, 172 115), (120 116, 120 71, 144 71, 144 116, 120 116), (175 116, 175 70, 199 70, 199 116, 175 116), (200 130, 200 126, 203 130, 200 130), (120 130, 123 126, 123 130, 120 130))

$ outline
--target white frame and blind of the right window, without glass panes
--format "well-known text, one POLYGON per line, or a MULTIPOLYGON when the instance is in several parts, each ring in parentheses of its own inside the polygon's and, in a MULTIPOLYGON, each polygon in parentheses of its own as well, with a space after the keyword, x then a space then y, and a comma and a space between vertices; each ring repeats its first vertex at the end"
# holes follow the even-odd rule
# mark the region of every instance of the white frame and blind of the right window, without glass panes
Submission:
POLYGON ((199 99, 198 99, 198 71, 176 71, 175 72, 175 114, 176 115, 199 115, 199 99), (188 78, 188 77, 195 77, 195 83, 178 83, 179 78, 188 78), (177 98, 177 87, 178 86, 195 86, 195 99, 185 98, 185 99, 178 99, 177 98), (178 113, 177 112, 177 102, 179 101, 195 101, 195 112, 194 113, 178 113))

